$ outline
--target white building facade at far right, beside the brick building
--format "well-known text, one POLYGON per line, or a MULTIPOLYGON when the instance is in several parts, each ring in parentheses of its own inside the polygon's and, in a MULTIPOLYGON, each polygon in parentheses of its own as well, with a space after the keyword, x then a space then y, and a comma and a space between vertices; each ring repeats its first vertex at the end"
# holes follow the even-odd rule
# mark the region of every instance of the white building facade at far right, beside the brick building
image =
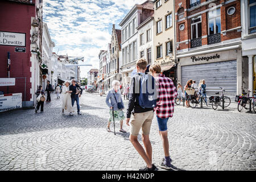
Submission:
MULTIPOLYGON (((256 1, 241 0, 243 88, 256 90, 256 1)), ((246 90, 247 92, 247 90, 246 90)), ((255 92, 254 92, 255 93, 255 92)), ((252 95, 253 93, 251 93, 252 95)))

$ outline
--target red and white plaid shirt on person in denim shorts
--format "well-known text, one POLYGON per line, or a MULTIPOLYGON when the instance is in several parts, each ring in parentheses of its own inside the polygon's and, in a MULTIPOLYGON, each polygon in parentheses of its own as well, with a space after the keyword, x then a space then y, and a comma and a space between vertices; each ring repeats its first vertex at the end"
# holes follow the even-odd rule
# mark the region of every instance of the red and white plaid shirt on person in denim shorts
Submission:
POLYGON ((168 77, 159 74, 155 77, 158 87, 158 100, 156 101, 156 115, 159 118, 171 118, 174 114, 174 99, 177 96, 177 90, 174 82, 168 77))

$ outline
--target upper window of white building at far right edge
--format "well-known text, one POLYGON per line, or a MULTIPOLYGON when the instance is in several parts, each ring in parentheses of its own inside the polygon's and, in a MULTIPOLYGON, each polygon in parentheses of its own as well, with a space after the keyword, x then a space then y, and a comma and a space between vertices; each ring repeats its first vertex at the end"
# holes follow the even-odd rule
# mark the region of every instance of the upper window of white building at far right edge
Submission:
POLYGON ((256 32, 256 0, 249 0, 249 34, 256 32))

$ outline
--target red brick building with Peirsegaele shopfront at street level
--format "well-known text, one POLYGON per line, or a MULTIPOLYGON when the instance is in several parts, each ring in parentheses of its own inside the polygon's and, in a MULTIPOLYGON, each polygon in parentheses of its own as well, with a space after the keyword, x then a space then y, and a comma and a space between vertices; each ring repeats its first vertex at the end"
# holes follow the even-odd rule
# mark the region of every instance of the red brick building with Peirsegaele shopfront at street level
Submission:
POLYGON ((208 95, 241 93, 240 1, 175 1, 177 81, 205 80, 208 95))

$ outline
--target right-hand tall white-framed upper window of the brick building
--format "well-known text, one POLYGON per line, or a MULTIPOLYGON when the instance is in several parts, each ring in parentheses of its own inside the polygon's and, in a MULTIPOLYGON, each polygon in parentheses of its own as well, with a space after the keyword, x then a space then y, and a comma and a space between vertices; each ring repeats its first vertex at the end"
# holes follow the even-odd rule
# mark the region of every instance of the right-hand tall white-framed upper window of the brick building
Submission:
POLYGON ((221 12, 220 9, 209 11, 208 13, 208 34, 218 34, 221 32, 221 12))

